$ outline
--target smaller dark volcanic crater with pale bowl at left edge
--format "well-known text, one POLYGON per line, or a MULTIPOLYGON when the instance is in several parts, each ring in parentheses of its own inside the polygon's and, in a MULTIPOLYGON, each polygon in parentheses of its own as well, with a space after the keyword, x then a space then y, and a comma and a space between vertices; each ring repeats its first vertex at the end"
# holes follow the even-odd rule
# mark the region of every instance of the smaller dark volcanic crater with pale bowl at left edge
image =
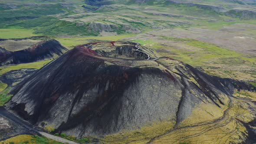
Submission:
POLYGON ((68 51, 55 39, 34 36, 24 39, 0 39, 0 65, 54 59, 68 51))

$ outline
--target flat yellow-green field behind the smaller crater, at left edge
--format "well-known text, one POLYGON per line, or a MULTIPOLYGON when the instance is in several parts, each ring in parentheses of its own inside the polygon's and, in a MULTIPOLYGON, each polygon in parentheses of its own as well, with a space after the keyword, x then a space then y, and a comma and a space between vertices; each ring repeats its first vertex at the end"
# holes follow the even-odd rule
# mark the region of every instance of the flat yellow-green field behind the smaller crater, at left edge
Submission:
POLYGON ((0 29, 0 38, 11 39, 37 36, 33 32, 33 29, 0 29))

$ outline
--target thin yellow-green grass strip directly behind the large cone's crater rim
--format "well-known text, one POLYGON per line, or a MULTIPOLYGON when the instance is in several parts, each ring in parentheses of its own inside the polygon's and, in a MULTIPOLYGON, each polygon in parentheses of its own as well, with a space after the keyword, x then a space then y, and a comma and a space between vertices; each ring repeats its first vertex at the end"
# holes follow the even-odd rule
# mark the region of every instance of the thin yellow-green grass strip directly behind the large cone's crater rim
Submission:
POLYGON ((85 36, 85 37, 71 37, 71 38, 56 38, 63 46, 72 49, 74 46, 90 43, 92 40, 98 41, 117 41, 120 39, 135 36, 136 34, 124 34, 116 36, 85 36))

